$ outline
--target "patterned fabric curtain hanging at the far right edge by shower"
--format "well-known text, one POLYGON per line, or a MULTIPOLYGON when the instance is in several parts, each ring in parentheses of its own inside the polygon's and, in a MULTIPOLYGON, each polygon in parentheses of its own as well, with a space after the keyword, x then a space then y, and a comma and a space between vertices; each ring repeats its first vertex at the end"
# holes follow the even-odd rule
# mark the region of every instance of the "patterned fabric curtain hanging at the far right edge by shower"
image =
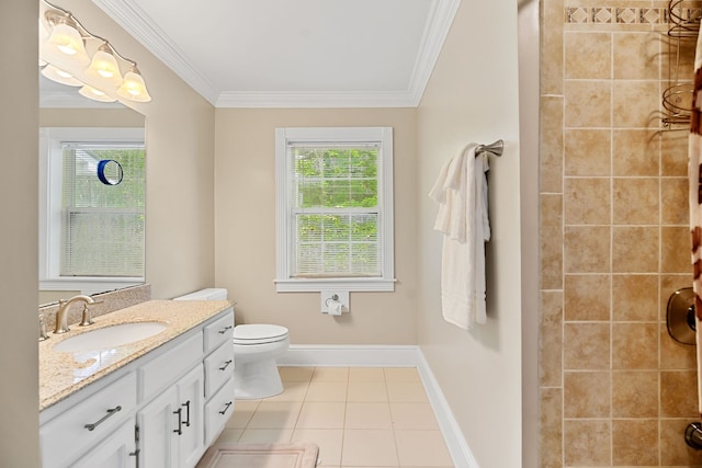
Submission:
POLYGON ((702 419, 702 36, 698 36, 694 57, 694 88, 688 141, 688 176, 690 181, 690 231, 698 353, 698 406, 702 419))

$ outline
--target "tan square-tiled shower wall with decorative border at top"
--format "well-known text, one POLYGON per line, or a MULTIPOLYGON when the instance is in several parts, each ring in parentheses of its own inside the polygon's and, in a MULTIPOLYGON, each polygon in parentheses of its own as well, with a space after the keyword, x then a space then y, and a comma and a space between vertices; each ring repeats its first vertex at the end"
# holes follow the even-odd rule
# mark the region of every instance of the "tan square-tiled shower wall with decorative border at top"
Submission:
POLYGON ((666 329, 691 284, 687 132, 659 113, 667 8, 542 0, 541 467, 702 466, 683 440, 694 346, 666 329))

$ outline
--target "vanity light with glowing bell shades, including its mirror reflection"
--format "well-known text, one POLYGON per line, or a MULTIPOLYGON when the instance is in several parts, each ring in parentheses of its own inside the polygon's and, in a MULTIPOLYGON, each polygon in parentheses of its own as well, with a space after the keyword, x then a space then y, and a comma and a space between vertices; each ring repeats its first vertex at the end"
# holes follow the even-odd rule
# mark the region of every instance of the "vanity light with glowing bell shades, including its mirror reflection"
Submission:
POLYGON ((61 84, 81 87, 79 93, 94 101, 151 101, 134 60, 86 30, 70 12, 46 0, 42 0, 39 12, 42 75, 61 84))

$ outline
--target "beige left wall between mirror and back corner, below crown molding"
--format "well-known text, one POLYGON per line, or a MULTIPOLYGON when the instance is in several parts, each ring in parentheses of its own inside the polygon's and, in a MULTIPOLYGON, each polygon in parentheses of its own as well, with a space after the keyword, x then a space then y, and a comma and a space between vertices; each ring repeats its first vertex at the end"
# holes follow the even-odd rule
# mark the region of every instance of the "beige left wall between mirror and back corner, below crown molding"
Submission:
POLYGON ((145 77, 146 281, 154 298, 214 282, 214 107, 90 0, 65 0, 88 31, 106 37, 145 77))

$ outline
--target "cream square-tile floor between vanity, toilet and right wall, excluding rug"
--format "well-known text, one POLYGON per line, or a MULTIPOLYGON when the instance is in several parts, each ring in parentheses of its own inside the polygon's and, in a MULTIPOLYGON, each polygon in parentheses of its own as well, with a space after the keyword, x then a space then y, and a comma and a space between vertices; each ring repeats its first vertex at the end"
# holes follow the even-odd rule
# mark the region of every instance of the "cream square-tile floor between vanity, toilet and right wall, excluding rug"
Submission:
POLYGON ((453 467, 416 368, 280 373, 285 391, 238 400, 218 442, 315 442, 320 468, 453 467))

